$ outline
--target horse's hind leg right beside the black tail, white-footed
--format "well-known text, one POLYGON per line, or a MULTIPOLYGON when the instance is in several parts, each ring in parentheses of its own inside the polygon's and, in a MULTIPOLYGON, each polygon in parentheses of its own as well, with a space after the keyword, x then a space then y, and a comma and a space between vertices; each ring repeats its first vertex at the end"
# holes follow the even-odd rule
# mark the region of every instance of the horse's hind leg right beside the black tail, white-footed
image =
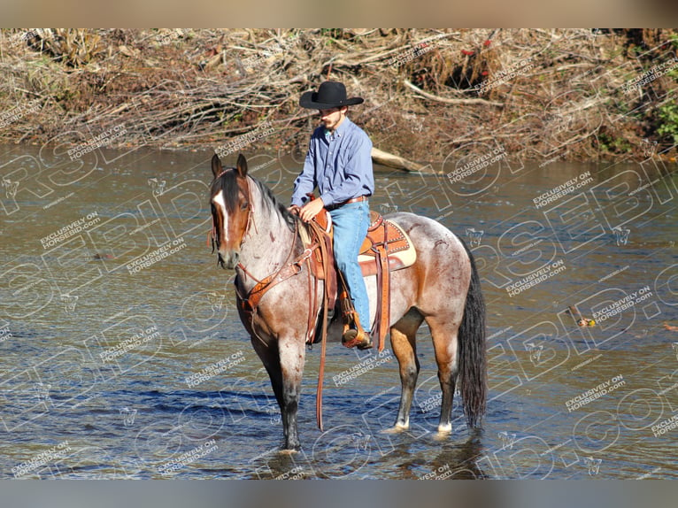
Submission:
POLYGON ((433 337, 438 381, 443 392, 438 432, 451 432, 452 400, 458 374, 458 324, 454 325, 447 319, 435 319, 431 316, 426 321, 433 337))

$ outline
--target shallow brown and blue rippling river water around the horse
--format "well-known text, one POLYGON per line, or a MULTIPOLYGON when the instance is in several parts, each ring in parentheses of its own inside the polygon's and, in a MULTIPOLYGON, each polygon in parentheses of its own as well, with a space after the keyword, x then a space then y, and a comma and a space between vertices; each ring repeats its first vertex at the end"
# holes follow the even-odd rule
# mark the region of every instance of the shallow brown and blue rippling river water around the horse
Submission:
MULTIPOLYGON (((216 267, 206 151, 3 147, 0 472, 22 478, 677 478, 675 165, 447 163, 377 168, 373 208, 470 243, 488 306, 482 431, 435 434, 428 329, 407 433, 386 434, 397 362, 308 352, 304 450, 280 415, 216 267), (578 327, 575 306, 596 326, 578 327), (340 381, 362 364, 366 373, 340 381), (352 369, 352 370, 351 370, 352 369)), ((299 161, 250 172, 289 200, 299 161)), ((444 296, 441 296, 444 297, 444 296)))

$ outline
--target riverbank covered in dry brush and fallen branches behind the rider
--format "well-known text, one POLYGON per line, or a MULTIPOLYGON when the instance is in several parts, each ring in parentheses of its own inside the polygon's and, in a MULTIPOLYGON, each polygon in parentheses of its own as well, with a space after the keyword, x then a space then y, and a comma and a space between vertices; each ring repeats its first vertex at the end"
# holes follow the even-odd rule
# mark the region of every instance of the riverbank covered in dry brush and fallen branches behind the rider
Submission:
POLYGON ((0 142, 301 152, 304 90, 365 104, 374 146, 420 162, 671 159, 678 31, 0 32, 0 142))

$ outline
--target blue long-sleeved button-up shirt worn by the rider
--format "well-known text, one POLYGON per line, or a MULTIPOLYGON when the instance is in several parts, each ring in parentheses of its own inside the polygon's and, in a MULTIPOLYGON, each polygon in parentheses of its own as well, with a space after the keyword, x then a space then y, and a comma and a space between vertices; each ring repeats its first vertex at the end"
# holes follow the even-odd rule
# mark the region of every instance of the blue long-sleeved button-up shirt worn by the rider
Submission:
POLYGON ((304 170, 294 182, 292 204, 305 204, 306 194, 316 187, 325 206, 374 194, 372 142, 348 117, 334 134, 323 126, 313 131, 304 170))

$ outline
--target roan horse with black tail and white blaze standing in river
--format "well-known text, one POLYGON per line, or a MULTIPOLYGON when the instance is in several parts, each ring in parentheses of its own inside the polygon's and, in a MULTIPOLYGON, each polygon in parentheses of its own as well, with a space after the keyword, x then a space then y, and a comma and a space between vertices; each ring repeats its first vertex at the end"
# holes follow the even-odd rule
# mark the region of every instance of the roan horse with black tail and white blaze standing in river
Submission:
MULTIPOLYGON (((287 276, 262 296, 250 319, 243 300, 262 279, 281 273, 303 256, 296 216, 289 213, 270 189, 247 175, 241 154, 235 168, 224 170, 212 158, 210 202, 212 245, 221 267, 235 269, 235 289, 243 325, 266 367, 280 405, 284 432, 282 450, 300 448, 297 408, 309 320, 311 295, 308 266, 297 263, 297 273, 287 276)), ((469 427, 477 427, 485 411, 485 307, 474 259, 457 236, 433 219, 397 212, 388 218, 410 236, 417 250, 414 265, 391 273, 390 341, 400 366, 402 393, 395 427, 409 427, 412 395, 420 364, 415 335, 426 320, 433 337, 438 379, 443 391, 439 433, 451 433, 452 397, 458 380, 469 427)), ((370 314, 375 312, 374 277, 366 278, 370 314)), ((318 308, 318 307, 316 307, 318 308)), ((319 318, 314 316, 314 319, 319 318)), ((342 324, 328 335, 341 335, 342 324)))

